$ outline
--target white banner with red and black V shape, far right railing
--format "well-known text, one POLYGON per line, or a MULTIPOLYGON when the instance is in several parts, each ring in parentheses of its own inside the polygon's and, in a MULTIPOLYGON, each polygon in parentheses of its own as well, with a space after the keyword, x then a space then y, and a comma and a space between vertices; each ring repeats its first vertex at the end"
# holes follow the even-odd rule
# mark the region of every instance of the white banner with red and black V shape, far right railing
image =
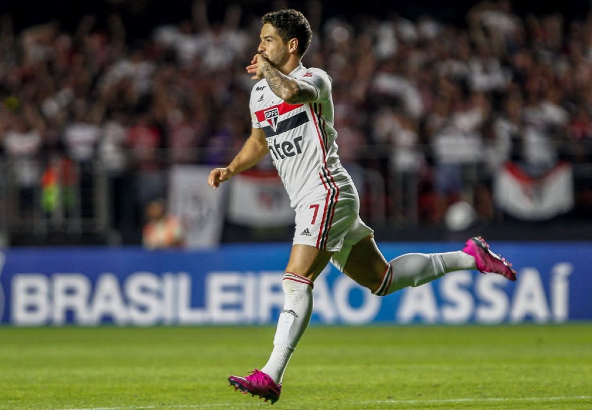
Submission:
POLYGON ((494 198, 511 216, 545 220, 574 207, 572 166, 559 164, 540 178, 531 178, 516 164, 504 166, 497 175, 494 198))

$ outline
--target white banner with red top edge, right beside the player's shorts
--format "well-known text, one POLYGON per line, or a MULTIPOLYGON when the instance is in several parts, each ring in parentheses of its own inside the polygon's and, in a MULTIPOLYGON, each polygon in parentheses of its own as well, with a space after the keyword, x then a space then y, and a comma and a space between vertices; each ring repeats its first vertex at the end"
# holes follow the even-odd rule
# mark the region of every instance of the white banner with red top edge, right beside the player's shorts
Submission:
POLYGON ((294 225, 294 210, 275 170, 243 172, 231 184, 231 222, 258 228, 294 225))

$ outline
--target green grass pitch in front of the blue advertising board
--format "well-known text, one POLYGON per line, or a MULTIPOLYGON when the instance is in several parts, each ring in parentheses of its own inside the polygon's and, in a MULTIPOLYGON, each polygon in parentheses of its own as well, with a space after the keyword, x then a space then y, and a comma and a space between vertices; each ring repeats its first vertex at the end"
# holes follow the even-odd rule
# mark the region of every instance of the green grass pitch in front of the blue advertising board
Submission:
MULTIPOLYGON (((257 409, 272 327, 0 327, 0 409, 257 409)), ((592 409, 592 324, 310 326, 274 410, 592 409)))

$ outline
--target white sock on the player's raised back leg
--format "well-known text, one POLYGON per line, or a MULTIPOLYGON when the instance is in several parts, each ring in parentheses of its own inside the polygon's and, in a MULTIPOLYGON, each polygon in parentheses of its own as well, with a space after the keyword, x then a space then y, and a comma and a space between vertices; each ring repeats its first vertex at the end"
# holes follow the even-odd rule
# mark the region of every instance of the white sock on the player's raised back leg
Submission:
POLYGON ((407 286, 420 286, 446 273, 475 269, 475 258, 462 251, 440 254, 405 254, 388 262, 381 286, 374 291, 385 296, 407 286))

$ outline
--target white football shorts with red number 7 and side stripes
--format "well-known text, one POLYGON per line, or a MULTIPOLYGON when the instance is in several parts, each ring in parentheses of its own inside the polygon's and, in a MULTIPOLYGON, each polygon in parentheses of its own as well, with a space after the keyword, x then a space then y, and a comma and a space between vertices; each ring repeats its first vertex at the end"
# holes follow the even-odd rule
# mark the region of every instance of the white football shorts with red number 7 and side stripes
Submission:
POLYGON ((334 252, 331 262, 343 271, 352 246, 374 230, 359 216, 360 200, 353 184, 313 193, 296 209, 293 245, 334 252))

